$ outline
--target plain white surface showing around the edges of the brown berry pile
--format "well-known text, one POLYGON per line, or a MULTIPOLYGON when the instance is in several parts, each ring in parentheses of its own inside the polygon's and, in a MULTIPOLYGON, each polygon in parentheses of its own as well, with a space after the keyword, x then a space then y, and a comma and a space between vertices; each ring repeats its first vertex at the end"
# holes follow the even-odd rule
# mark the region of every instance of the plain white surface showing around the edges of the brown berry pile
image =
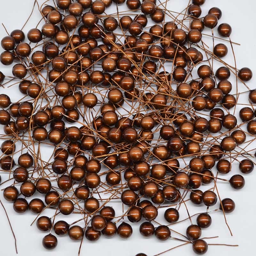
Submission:
MULTIPOLYGON (((4 23, 8 32, 11 32, 13 29, 21 28, 21 26, 23 26, 24 22, 28 18, 28 15, 31 12, 33 2, 33 0, 1 1, 0 22, 4 23)), ((41 3, 43 1, 39 2, 41 3)), ((49 3, 51 3, 51 1, 49 1, 49 3)), ((187 3, 187 0, 171 0, 167 2, 167 8, 171 9, 172 11, 180 11, 187 3)), ((202 6, 202 16, 204 16, 213 6, 217 6, 222 10, 223 16, 219 23, 228 22, 233 28, 233 32, 231 35, 232 40, 241 44, 241 46, 234 46, 238 68, 244 66, 250 67, 255 75, 256 38, 254 15, 256 3, 252 0, 244 0, 242 1, 242 3, 240 0, 233 0, 231 2, 227 0, 206 0, 206 3, 202 6)), ((32 20, 33 19, 36 21, 39 20, 37 12, 35 12, 35 14, 33 15, 32 20)), ((32 22, 30 22, 29 24, 32 24, 32 22)), ((24 29, 25 34, 27 34, 30 28, 32 28, 29 24, 24 29)), ((210 33, 209 29, 206 29, 205 31, 207 31, 208 34, 210 33)), ((5 35, 6 33, 4 31, 4 28, 0 27, 0 37, 2 38, 5 35)), ((216 40, 216 43, 217 42, 218 41, 216 40)), ((231 51, 229 51, 228 57, 225 57, 225 61, 231 64, 234 63, 231 51)), ((4 72, 9 68, 10 67, 5 68, 3 67, 3 65, 1 65, 0 70, 4 72)), ((255 76, 252 81, 248 83, 248 85, 252 89, 255 88, 254 81, 255 76)), ((233 84, 233 86, 235 87, 235 84, 233 84)), ((239 84, 239 86, 241 86, 241 91, 245 91, 242 84, 239 84)), ((11 91, 13 97, 17 97, 16 95, 14 95, 16 94, 17 89, 12 88, 11 91)), ((6 91, 3 88, 0 88, 0 93, 5 92, 6 91)), ((8 93, 10 93, 10 91, 8 91, 8 93)), ((248 94, 244 94, 243 96, 241 96, 240 101, 248 103, 247 97, 248 94)), ((238 119, 238 122, 240 121, 241 120, 238 119)), ((255 148, 255 145, 251 145, 248 148, 255 148)), ((254 153, 254 151, 252 151, 252 153, 254 153)), ((223 178, 229 179, 235 173, 239 173, 237 163, 233 165, 232 172, 225 177, 223 176, 223 178)), ((1 174, 1 176, 3 178, 2 180, 4 180, 4 175, 1 174)), ((241 255, 241 253, 245 253, 245 255, 254 255, 254 231, 256 227, 256 201, 254 199, 256 184, 255 171, 249 175, 244 175, 244 177, 246 180, 246 184, 244 189, 240 191, 234 191, 227 183, 218 183, 221 197, 230 197, 236 202, 235 211, 227 215, 228 224, 233 232, 233 237, 230 236, 221 212, 215 212, 211 214, 212 226, 208 229, 204 229, 202 232, 202 237, 219 236, 219 238, 207 240, 208 243, 239 244, 239 247, 209 246, 207 252, 208 256, 227 254, 241 255)), ((4 185, 1 188, 4 188, 4 185)), ((200 189, 206 190, 205 188, 201 187, 200 189)), ((4 203, 9 218, 11 220, 12 227, 17 238, 17 247, 20 256, 42 256, 46 254, 49 256, 77 255, 80 242, 73 242, 69 239, 68 236, 58 237, 58 247, 54 251, 46 251, 42 246, 42 238, 45 234, 38 231, 36 225, 30 227, 31 222, 34 220, 36 215, 31 214, 29 211, 26 214, 18 215, 13 211, 12 204, 4 200, 2 192, 0 193, 0 198, 4 203)), ((218 204, 219 201, 216 204, 216 207, 218 204)), ((216 207, 212 207, 212 209, 216 209, 216 207)), ((182 209, 180 211, 180 220, 187 218, 186 212, 182 209)), ((193 212, 196 213, 205 211, 206 207, 195 207, 192 204, 189 204, 189 209, 192 209, 191 214, 193 214, 193 212)), ((52 215, 52 211, 50 213, 48 212, 48 216, 52 215)), ((0 207, 0 216, 1 255, 15 255, 14 240, 2 207, 0 207)), ((160 219, 157 220, 167 224, 166 222, 164 222, 164 220, 161 220, 161 217, 159 218, 160 219)), ((195 223, 196 217, 193 218, 193 221, 195 223)), ((181 224, 174 225, 172 226, 172 228, 184 234, 188 225, 189 222, 186 221, 181 224)), ((148 239, 143 238, 139 234, 139 226, 140 224, 132 224, 133 235, 128 240, 122 240, 118 236, 111 239, 107 239, 104 236, 101 236, 99 241, 97 241, 96 243, 91 243, 87 239, 84 239, 81 249, 81 255, 134 256, 139 252, 144 252, 148 256, 152 256, 180 244, 179 242, 174 240, 160 242, 156 239, 155 236, 152 236, 148 239)), ((174 233, 172 233, 172 235, 173 234, 174 233)), ((174 251, 167 252, 163 255, 172 254, 193 255, 192 246, 186 245, 175 249, 174 251)))

